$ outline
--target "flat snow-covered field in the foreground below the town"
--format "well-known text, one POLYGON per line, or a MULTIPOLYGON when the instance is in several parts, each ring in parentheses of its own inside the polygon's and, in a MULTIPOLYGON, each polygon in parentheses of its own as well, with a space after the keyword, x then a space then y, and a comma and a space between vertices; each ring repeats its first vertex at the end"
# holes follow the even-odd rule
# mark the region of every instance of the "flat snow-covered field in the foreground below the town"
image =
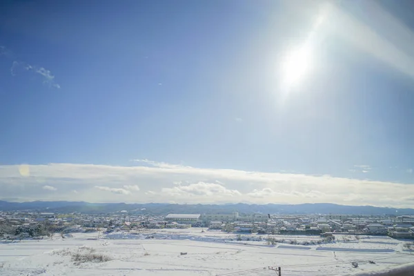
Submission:
POLYGON ((282 275, 348 275, 414 262, 404 242, 388 237, 344 242, 338 235, 334 243, 310 246, 290 243, 319 237, 273 236, 285 241, 269 245, 268 235, 242 235, 239 241, 237 234, 200 228, 96 237, 2 241, 0 275, 276 275, 269 266, 281 266, 282 275))

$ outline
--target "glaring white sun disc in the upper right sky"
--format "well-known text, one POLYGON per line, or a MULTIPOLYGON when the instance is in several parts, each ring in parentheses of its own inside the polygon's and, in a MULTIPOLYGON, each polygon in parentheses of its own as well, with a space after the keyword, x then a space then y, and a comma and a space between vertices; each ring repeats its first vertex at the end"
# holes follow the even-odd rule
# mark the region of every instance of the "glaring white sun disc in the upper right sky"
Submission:
POLYGON ((311 51, 304 46, 289 52, 282 63, 283 81, 287 87, 297 85, 309 70, 311 51))

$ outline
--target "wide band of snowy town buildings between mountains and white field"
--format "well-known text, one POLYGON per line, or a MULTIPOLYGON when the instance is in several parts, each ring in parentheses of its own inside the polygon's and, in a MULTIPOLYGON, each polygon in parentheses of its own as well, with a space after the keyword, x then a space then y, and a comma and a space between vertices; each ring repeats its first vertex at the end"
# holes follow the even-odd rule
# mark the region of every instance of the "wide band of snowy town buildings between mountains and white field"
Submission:
MULTIPOLYGON (((389 235, 414 238, 414 216, 353 216, 353 215, 251 215, 169 214, 131 215, 121 211, 111 215, 0 212, 0 226, 34 226, 48 224, 56 232, 81 232, 105 228, 108 231, 139 228, 206 227, 241 233, 319 234, 349 233, 389 235)), ((1 228, 1 227, 0 227, 1 228)), ((4 232, 4 231, 3 231, 4 232)), ((1 229, 0 229, 1 234, 1 229)))

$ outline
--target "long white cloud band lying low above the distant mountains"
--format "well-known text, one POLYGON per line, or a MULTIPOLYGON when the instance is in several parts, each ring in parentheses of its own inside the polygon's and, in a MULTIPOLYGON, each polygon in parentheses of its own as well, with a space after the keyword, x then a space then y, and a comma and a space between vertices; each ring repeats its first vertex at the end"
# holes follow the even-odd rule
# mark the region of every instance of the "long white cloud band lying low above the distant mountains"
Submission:
POLYGON ((139 161, 141 166, 48 164, 23 165, 24 170, 19 165, 0 166, 1 197, 19 201, 331 202, 395 207, 411 207, 414 199, 411 184, 139 161), (21 175, 21 171, 25 173, 21 175), (39 193, 43 186, 56 187, 61 193, 39 193))

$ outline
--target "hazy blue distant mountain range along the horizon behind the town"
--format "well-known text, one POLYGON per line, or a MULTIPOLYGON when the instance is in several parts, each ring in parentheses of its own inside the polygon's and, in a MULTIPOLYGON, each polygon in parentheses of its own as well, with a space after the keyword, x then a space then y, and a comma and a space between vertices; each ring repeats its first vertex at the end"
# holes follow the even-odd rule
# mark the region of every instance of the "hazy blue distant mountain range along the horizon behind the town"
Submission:
POLYGON ((386 208, 374 206, 346 206, 338 204, 125 204, 88 203, 83 201, 0 201, 0 210, 30 210, 54 213, 130 213, 164 215, 168 213, 270 213, 270 214, 351 214, 351 215, 414 215, 411 208, 386 208))

